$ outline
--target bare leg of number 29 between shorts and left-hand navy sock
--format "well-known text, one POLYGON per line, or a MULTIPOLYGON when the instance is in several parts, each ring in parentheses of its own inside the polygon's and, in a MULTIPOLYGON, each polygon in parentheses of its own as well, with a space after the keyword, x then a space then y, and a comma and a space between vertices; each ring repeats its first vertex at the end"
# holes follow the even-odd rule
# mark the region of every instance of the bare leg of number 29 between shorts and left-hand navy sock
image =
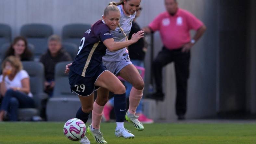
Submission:
POLYGON ((93 110, 93 102, 94 102, 94 94, 92 93, 89 96, 81 96, 78 95, 80 102, 82 104, 83 111, 85 110, 87 113, 93 110))

